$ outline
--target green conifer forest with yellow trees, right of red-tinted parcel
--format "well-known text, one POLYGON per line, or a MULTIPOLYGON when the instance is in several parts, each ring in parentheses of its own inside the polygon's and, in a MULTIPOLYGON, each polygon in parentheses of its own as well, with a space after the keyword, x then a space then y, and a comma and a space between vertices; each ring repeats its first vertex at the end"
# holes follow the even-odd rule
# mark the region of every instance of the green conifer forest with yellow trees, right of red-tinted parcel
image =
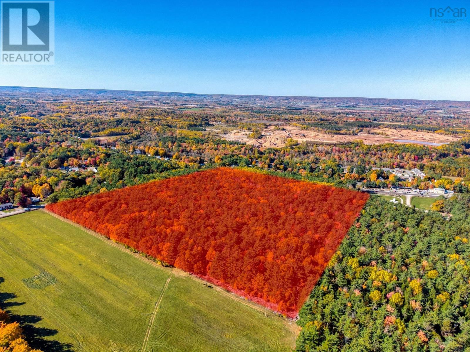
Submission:
POLYGON ((296 351, 469 351, 469 195, 444 211, 370 199, 300 311, 296 351))

